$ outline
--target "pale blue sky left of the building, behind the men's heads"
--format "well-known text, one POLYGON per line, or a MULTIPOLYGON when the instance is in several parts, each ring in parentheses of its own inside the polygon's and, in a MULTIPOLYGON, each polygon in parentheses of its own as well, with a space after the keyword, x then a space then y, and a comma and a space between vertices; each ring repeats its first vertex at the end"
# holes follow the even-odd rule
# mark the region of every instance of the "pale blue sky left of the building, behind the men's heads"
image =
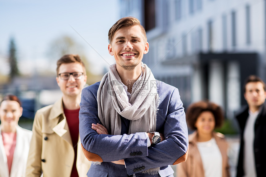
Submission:
POLYGON ((91 70, 101 72, 103 67, 114 63, 107 49, 108 30, 120 18, 118 5, 118 0, 0 0, 0 65, 5 65, 9 41, 14 37, 23 73, 55 70, 58 58, 51 60, 47 55, 49 44, 67 35, 82 45, 93 66, 91 70))

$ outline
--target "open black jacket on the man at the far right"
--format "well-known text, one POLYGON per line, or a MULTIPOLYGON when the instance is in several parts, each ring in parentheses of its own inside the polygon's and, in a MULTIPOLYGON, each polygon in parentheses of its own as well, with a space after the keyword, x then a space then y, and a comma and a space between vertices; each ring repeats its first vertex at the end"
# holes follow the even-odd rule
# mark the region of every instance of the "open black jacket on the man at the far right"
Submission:
MULTIPOLYGON (((248 107, 240 112, 236 119, 241 130, 241 141, 240 141, 240 150, 237 166, 237 177, 242 177, 244 175, 243 171, 243 148, 244 140, 243 133, 248 117, 248 107)), ((255 137, 254 137, 254 154, 255 154, 255 168, 257 172, 257 177, 266 176, 266 103, 260 108, 260 112, 255 121, 255 137)))

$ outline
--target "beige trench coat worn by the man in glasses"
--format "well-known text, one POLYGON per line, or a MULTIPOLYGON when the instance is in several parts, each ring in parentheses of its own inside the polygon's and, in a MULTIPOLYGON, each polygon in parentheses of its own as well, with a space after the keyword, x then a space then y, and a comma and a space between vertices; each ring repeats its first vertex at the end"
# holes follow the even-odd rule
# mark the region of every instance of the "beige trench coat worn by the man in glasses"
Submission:
POLYGON ((70 177, 76 144, 77 170, 80 177, 87 177, 91 163, 83 154, 80 138, 72 143, 62 99, 36 112, 32 132, 27 177, 40 177, 42 171, 43 177, 70 177))

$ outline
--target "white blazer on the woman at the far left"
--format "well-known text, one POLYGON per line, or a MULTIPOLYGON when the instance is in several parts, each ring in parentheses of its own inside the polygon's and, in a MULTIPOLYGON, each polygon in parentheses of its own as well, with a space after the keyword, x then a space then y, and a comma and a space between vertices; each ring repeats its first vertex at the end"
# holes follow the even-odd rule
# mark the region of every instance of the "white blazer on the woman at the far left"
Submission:
POLYGON ((16 146, 12 160, 11 172, 9 175, 6 151, 4 149, 3 138, 0 127, 0 177, 24 177, 29 153, 32 131, 16 128, 16 146))

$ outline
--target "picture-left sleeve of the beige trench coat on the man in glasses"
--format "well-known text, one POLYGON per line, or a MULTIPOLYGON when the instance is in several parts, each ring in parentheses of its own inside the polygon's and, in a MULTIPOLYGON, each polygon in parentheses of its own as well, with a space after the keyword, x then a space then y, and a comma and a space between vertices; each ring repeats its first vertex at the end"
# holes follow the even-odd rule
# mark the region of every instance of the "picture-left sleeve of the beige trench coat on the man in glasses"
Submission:
POLYGON ((41 134, 41 114, 37 111, 33 121, 32 127, 32 140, 30 143, 28 162, 26 167, 27 177, 40 177, 41 176, 41 147, 42 147, 42 134, 41 134))

